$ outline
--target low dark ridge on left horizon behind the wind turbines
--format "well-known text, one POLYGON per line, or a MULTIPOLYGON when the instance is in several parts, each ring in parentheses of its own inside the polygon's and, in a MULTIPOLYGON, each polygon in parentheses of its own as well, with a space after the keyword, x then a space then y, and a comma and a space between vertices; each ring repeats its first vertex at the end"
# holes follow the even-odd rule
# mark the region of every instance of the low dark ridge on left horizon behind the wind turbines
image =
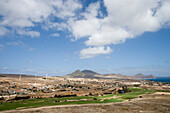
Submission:
MULTIPOLYGON (((10 78, 19 78, 20 74, 0 74, 0 77, 10 77, 10 78)), ((34 78, 34 75, 23 75, 21 74, 22 78, 34 78)), ((40 76, 37 76, 40 77, 40 76)))

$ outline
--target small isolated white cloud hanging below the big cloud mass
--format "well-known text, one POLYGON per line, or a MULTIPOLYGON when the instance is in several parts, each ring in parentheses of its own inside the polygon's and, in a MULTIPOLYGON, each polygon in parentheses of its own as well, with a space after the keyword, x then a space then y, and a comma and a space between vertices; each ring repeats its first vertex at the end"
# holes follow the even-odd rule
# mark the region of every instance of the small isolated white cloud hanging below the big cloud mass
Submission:
POLYGON ((80 58, 81 59, 85 59, 85 58, 93 58, 97 55, 100 55, 100 54, 109 54, 112 52, 112 49, 107 46, 106 48, 105 47, 89 47, 89 48, 86 48, 86 49, 82 49, 80 51, 80 58))

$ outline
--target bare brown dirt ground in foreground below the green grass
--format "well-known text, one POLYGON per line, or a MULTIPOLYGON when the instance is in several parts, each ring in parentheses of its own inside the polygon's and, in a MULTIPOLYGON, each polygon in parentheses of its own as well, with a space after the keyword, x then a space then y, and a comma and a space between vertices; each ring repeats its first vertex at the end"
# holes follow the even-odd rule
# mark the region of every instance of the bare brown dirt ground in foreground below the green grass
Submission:
POLYGON ((170 113, 170 93, 157 92, 118 103, 48 106, 0 113, 170 113))

